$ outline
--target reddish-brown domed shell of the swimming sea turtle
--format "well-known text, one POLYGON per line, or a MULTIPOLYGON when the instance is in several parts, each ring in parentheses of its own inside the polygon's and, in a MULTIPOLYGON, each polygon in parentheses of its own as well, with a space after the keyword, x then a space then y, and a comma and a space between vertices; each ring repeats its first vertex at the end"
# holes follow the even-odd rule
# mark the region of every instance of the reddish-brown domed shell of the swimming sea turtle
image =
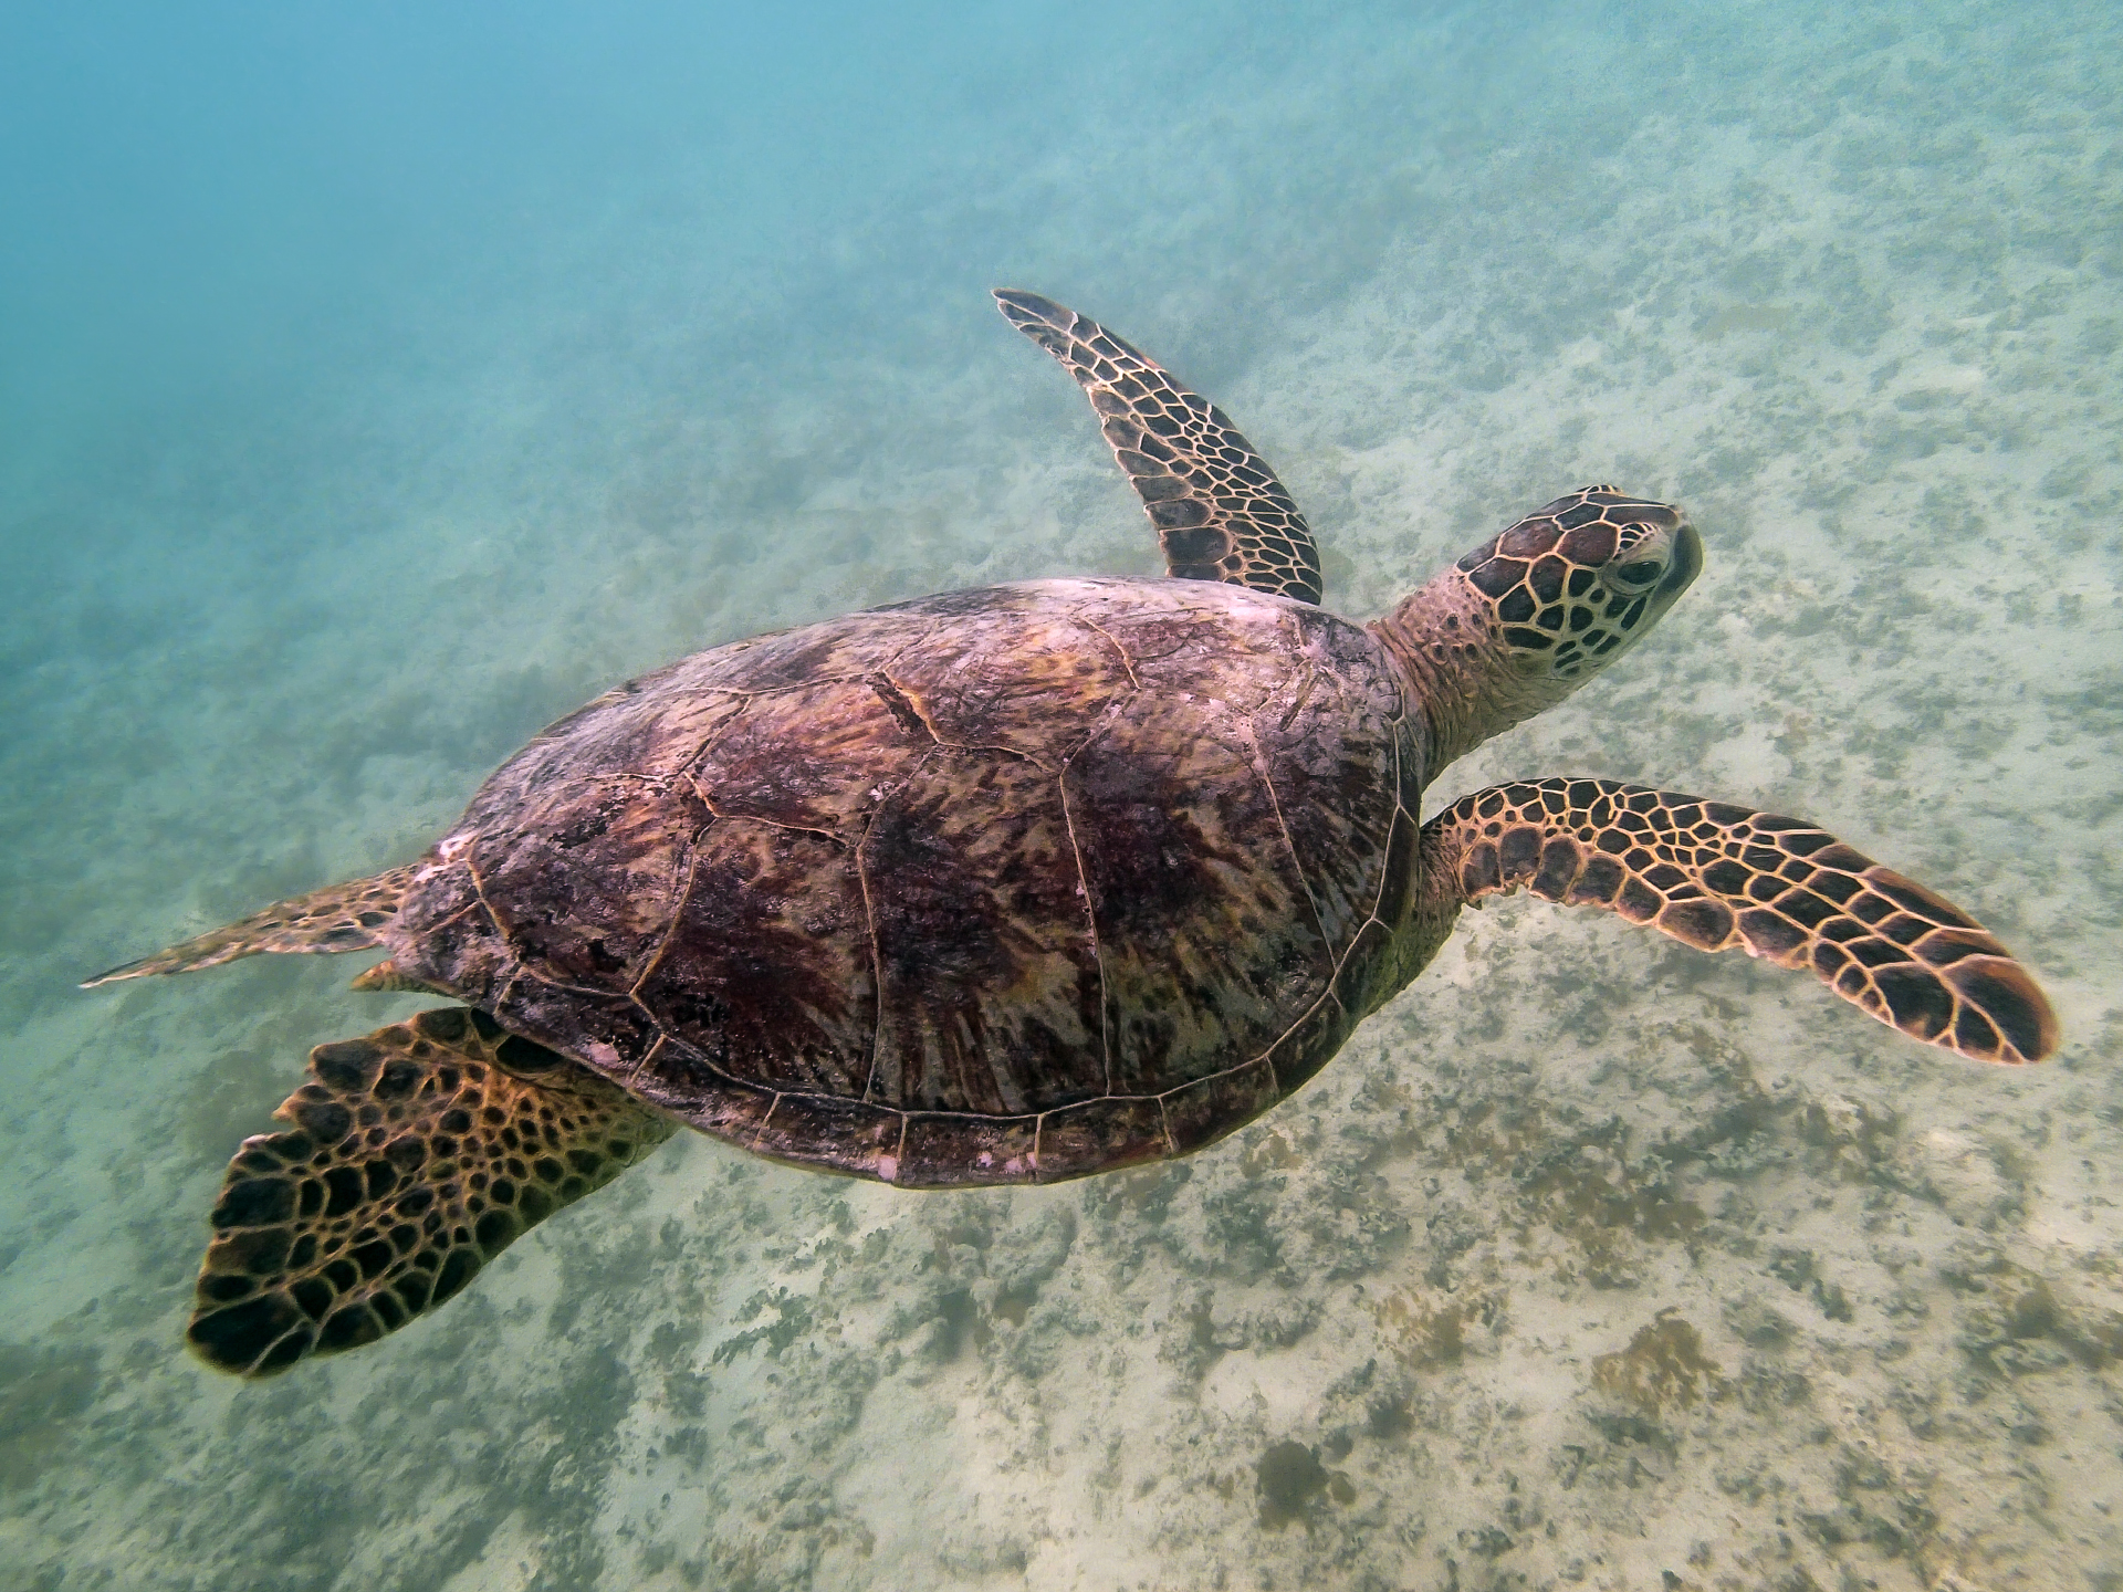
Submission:
POLYGON ((1178 1155, 1371 1000, 1420 745, 1380 645, 1208 582, 953 592, 546 730, 391 930, 703 1131, 934 1187, 1178 1155))

